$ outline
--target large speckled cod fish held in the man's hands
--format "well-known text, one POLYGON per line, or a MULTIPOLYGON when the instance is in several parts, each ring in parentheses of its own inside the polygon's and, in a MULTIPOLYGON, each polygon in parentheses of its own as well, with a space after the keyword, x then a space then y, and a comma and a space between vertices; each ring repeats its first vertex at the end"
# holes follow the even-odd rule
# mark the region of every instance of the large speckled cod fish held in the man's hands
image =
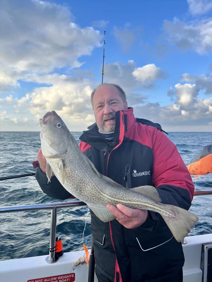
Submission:
POLYGON ((40 125, 41 150, 47 161, 48 181, 53 172, 63 187, 84 201, 103 222, 115 218, 106 208, 107 204, 116 206, 120 203, 130 208, 158 212, 175 239, 181 242, 198 221, 198 217, 191 212, 160 203, 161 199, 153 186, 127 189, 101 175, 81 152, 76 140, 55 111, 47 112, 40 119, 40 125))

